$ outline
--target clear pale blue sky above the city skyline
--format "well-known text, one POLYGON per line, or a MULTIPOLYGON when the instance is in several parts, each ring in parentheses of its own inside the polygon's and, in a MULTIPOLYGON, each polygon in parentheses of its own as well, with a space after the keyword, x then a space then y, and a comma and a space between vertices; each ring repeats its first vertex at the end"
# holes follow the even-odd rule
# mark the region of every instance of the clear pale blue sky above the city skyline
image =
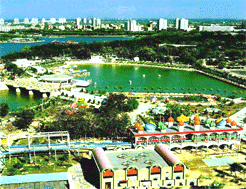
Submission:
POLYGON ((0 18, 246 18, 246 0, 0 0, 0 18))

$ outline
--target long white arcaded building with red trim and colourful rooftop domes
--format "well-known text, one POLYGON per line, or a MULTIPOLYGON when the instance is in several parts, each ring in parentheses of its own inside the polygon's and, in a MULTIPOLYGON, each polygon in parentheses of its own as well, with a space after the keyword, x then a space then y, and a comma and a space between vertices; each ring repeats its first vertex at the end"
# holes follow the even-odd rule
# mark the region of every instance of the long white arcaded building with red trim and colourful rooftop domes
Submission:
POLYGON ((198 147, 228 147, 240 148, 243 126, 239 126, 231 118, 201 120, 197 115, 194 119, 183 114, 175 121, 169 117, 166 123, 146 123, 144 126, 136 123, 135 129, 130 129, 135 145, 151 146, 166 144, 169 149, 198 147), (192 123, 191 123, 192 122, 192 123))

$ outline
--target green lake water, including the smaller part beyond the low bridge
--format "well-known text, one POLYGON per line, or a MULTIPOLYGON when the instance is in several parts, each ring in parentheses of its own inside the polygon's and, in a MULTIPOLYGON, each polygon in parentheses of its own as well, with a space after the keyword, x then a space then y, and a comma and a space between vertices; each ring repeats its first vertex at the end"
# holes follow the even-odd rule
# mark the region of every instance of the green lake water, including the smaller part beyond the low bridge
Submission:
MULTIPOLYGON (((244 89, 193 71, 115 64, 82 64, 77 69, 86 69, 91 73, 90 76, 81 78, 92 80, 91 86, 88 87, 89 91, 186 92, 246 96, 244 89)), ((40 98, 40 96, 29 97, 27 93, 17 95, 13 91, 0 91, 0 103, 8 103, 11 110, 20 106, 35 105, 40 98)))

